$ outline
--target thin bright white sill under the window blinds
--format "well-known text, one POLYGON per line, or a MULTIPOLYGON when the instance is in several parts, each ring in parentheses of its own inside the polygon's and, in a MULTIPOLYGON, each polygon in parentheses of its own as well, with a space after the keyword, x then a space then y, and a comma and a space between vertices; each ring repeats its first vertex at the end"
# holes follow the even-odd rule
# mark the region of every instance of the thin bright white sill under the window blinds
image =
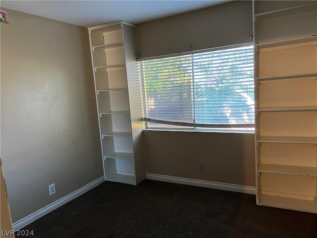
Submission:
POLYGON ((182 131, 182 132, 211 132, 211 133, 242 133, 242 134, 255 134, 255 129, 225 129, 225 128, 155 128, 148 127, 144 130, 153 130, 153 131, 182 131))

